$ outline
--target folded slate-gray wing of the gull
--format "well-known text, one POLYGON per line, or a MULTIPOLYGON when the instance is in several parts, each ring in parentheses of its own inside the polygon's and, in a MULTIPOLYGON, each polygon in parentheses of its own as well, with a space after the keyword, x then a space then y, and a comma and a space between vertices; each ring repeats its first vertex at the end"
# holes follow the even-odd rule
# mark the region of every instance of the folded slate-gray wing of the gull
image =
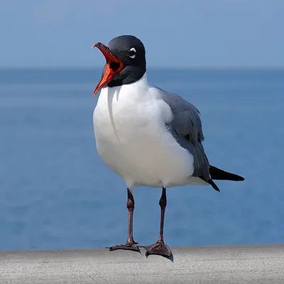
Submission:
POLYGON ((159 92, 173 112, 173 121, 168 125, 171 133, 180 146, 193 155, 195 167, 193 176, 202 177, 206 181, 210 180, 210 165, 202 146, 204 136, 200 111, 178 94, 171 94, 163 89, 160 89, 159 92))

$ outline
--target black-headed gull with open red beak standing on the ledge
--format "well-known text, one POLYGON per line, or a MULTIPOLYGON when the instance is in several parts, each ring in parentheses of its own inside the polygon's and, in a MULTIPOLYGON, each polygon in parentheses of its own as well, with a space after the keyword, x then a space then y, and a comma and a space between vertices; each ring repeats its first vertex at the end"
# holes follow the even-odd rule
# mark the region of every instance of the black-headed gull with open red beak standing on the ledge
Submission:
POLYGON ((146 49, 134 35, 119 35, 108 45, 96 43, 106 64, 94 108, 93 126, 97 152, 104 163, 126 183, 128 238, 126 244, 109 247, 140 251, 133 239, 134 187, 160 187, 160 234, 146 249, 172 258, 163 236, 166 189, 184 185, 211 185, 213 180, 244 180, 209 163, 202 142, 200 111, 178 94, 148 84, 146 49))

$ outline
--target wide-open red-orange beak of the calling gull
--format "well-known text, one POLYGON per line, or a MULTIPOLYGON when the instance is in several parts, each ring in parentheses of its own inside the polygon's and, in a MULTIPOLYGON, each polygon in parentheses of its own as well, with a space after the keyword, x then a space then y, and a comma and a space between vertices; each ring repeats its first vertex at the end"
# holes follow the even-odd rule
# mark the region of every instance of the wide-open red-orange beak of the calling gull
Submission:
POLYGON ((99 84, 94 90, 95 96, 100 89, 111 82, 116 74, 119 74, 119 72, 124 69, 124 63, 119 60, 119 58, 116 58, 116 56, 111 53, 111 50, 107 47, 107 45, 104 45, 103 43, 96 43, 92 46, 92 48, 99 48, 99 50, 102 51, 102 54, 107 60, 107 67, 104 71, 104 76, 102 77, 102 80, 99 81, 99 84))

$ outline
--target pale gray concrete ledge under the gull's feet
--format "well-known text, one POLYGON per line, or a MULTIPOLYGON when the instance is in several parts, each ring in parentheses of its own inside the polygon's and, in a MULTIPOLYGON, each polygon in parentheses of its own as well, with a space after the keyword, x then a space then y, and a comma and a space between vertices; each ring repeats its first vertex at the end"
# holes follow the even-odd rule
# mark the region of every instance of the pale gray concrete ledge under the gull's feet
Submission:
POLYGON ((143 249, 0 252, 0 283, 284 283, 284 245, 171 249, 173 262, 143 249))

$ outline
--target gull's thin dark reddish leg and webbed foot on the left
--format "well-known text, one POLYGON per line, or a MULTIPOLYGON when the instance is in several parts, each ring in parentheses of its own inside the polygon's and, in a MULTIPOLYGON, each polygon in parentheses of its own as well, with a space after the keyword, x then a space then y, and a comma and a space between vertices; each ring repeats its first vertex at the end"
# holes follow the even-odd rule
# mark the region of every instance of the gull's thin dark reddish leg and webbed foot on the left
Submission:
POLYGON ((134 198, 129 189, 127 189, 127 202, 126 202, 126 207, 129 209, 129 231, 128 231, 128 237, 127 237, 127 242, 126 244, 119 244, 116 246, 111 246, 109 249, 110 251, 114 251, 116 249, 126 249, 129 251, 139 251, 140 249, 138 246, 136 246, 136 241, 133 240, 133 212, 134 212, 134 198))

